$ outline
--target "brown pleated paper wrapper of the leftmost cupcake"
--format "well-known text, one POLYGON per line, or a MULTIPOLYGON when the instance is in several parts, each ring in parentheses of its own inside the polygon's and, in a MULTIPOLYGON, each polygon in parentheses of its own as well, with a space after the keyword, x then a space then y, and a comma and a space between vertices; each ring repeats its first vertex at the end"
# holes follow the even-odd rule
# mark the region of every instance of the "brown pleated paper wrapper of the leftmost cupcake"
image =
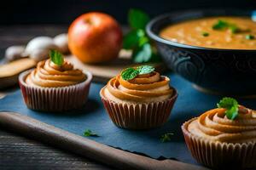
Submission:
POLYGON ((61 88, 40 88, 26 84, 25 79, 32 70, 19 76, 20 90, 26 106, 36 111, 68 111, 78 109, 87 100, 92 76, 84 72, 87 79, 84 82, 61 88))

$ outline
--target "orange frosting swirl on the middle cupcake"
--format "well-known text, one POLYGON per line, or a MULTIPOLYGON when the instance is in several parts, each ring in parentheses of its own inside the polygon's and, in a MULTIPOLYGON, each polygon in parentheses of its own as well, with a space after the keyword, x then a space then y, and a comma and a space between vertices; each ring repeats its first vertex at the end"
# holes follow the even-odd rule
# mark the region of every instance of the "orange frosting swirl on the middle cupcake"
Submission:
POLYGON ((158 72, 139 75, 126 81, 120 75, 113 77, 106 87, 102 88, 102 95, 116 102, 150 103, 163 101, 172 97, 170 79, 160 76, 158 72))

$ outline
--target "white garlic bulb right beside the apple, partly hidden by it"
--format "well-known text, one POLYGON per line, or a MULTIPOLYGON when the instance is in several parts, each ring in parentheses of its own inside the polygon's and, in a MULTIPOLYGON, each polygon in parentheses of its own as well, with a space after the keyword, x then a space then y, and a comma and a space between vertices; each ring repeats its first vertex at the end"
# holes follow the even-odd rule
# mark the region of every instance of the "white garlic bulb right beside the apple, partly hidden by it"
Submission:
POLYGON ((69 53, 66 33, 62 33, 62 34, 55 36, 53 40, 55 42, 55 45, 58 46, 58 48, 62 54, 69 53))

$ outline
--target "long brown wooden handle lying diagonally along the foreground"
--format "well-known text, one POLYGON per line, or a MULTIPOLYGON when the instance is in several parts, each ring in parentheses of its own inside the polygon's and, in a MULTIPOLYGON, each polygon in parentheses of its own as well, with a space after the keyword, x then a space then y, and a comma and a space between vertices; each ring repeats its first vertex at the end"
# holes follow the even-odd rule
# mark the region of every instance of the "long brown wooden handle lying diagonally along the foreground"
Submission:
POLYGON ((113 147, 99 144, 73 133, 39 122, 29 116, 13 112, 0 112, 0 125, 28 137, 38 139, 47 144, 55 144, 65 150, 70 150, 81 156, 87 156, 96 161, 108 164, 119 169, 140 170, 206 170, 179 161, 157 161, 146 156, 139 156, 113 147))

